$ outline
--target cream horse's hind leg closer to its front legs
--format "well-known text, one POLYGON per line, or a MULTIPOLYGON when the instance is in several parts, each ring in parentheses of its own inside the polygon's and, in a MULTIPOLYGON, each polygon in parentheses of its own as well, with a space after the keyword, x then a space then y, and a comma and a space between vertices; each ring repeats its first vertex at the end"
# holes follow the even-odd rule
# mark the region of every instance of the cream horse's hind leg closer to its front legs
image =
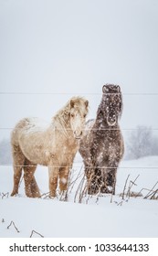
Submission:
POLYGON ((34 165, 26 159, 24 166, 24 180, 27 197, 40 197, 37 181, 34 176, 37 165, 34 165))

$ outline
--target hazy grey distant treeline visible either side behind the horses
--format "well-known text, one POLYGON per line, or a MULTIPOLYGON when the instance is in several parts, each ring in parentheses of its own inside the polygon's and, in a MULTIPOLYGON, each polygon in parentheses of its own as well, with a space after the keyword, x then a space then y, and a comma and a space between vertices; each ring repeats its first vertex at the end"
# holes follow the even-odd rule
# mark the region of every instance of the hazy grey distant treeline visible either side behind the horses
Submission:
MULTIPOLYGON (((138 159, 147 155, 158 155, 158 137, 150 127, 138 126, 125 140, 124 159, 138 159)), ((12 154, 9 139, 0 142, 0 165, 11 165, 12 154)))

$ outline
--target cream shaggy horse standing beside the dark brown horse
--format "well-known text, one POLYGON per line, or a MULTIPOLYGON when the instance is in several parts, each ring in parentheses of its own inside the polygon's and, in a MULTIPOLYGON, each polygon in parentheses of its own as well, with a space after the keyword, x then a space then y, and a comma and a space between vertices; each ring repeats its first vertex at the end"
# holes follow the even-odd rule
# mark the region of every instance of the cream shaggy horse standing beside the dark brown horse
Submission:
POLYGON ((11 196, 18 193, 22 169, 27 197, 40 197, 35 179, 37 165, 47 165, 49 195, 56 197, 56 189, 64 191, 68 174, 79 150, 79 139, 88 113, 89 101, 74 97, 58 111, 48 125, 37 118, 25 118, 16 124, 11 134, 14 160, 14 187, 11 196))

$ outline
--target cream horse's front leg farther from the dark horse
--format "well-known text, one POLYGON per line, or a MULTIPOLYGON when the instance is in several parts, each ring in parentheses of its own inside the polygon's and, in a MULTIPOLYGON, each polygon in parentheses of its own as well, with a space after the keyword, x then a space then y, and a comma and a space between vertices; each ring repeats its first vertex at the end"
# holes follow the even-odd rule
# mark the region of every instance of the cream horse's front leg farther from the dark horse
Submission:
POLYGON ((58 163, 51 161, 48 165, 49 176, 49 196, 56 197, 56 189, 58 187, 58 163))

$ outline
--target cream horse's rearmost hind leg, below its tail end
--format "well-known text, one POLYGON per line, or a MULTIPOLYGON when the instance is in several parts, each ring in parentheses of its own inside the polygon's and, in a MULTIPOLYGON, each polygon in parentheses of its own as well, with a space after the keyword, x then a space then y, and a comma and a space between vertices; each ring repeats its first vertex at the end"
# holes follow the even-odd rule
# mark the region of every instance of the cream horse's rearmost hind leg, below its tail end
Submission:
POLYGON ((17 145, 12 145, 12 155, 13 155, 13 166, 14 166, 14 187, 11 193, 11 197, 18 194, 18 186, 20 178, 22 175, 22 168, 25 162, 25 156, 23 155, 20 147, 17 145))

